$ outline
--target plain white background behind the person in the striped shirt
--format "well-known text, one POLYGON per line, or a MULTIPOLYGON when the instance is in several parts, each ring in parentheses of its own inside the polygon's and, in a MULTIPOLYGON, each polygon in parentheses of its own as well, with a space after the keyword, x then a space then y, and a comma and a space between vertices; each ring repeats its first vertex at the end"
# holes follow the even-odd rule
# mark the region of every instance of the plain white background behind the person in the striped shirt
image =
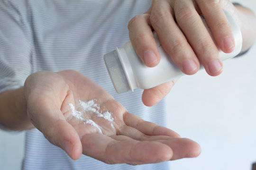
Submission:
MULTIPOLYGON (((256 13, 256 0, 237 0, 256 13)), ((251 170, 256 162, 256 45, 224 62, 220 76, 183 76, 167 96, 169 128, 201 145, 172 170, 251 170)), ((0 130, 0 169, 20 170, 25 133, 0 130)))

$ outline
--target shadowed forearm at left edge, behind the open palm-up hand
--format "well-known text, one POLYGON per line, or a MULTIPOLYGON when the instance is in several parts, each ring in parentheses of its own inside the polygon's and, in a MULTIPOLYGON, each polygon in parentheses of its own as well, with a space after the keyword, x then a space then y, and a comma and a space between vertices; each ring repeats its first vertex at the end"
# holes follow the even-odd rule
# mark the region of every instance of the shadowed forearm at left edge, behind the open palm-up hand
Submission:
POLYGON ((23 87, 0 93, 0 122, 11 130, 34 127, 27 117, 27 103, 23 87))

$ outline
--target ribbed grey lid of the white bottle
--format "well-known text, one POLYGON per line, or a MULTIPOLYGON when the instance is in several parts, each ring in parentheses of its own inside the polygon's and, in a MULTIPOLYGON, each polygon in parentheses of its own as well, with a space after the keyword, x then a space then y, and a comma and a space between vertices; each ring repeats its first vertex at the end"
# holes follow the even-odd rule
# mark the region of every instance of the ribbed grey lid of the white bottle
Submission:
POLYGON ((127 92, 130 88, 117 51, 105 54, 104 61, 117 93, 127 92))

